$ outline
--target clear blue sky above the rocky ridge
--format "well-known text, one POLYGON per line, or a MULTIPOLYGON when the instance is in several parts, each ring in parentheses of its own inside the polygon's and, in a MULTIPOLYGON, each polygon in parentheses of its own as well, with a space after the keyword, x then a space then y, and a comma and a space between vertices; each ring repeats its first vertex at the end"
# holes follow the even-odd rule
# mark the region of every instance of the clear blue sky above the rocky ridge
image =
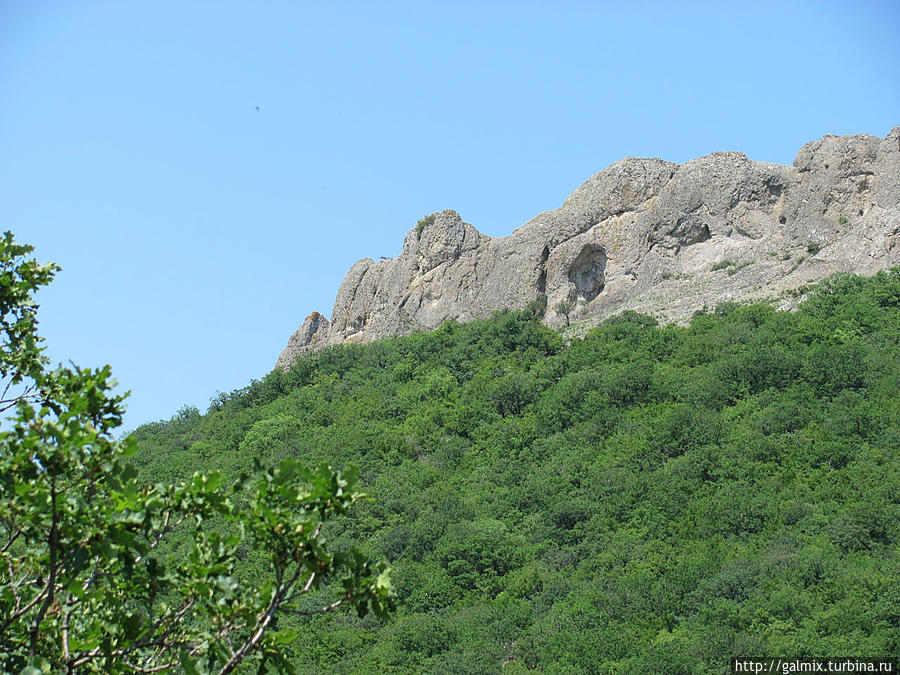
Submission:
POLYGON ((129 427, 265 375, 424 214, 503 236, 624 156, 897 124, 896 0, 0 0, 0 229, 129 427))

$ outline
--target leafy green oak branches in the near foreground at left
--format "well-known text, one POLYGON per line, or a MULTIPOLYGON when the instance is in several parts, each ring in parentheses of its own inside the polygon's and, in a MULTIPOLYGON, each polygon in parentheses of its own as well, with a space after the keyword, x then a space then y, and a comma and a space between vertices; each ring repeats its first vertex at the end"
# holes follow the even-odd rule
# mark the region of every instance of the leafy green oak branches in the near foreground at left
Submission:
MULTIPOLYGON (((0 670, 291 670, 290 615, 385 615, 386 565, 330 553, 322 535, 365 497, 355 471, 285 459, 231 481, 139 482, 135 441, 113 435, 125 396, 109 366, 47 367, 33 294, 58 268, 31 251, 0 240, 0 374, 15 406, 0 432, 0 670), (261 577, 241 574, 251 546, 267 559, 261 577)), ((194 423, 188 412, 179 423, 194 423)))

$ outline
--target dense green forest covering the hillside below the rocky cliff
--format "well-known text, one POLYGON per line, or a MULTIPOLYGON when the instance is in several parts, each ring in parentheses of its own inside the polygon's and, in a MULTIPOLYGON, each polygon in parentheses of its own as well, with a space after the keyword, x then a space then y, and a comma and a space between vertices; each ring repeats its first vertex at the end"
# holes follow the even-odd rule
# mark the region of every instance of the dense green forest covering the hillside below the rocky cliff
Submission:
POLYGON ((376 498, 326 534, 391 561, 398 610, 298 620, 300 672, 900 653, 900 268, 568 346, 526 311, 331 347, 134 435, 152 480, 359 468, 376 498))

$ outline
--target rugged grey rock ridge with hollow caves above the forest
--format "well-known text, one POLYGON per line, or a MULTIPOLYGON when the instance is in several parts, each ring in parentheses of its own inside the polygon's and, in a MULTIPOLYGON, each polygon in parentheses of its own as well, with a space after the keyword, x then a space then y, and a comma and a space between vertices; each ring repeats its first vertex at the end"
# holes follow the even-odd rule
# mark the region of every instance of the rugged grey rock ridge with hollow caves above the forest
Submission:
POLYGON ((673 164, 626 158, 554 211, 491 238, 455 211, 410 230, 394 259, 357 262, 331 321, 307 317, 278 358, 431 330, 545 295, 544 322, 626 309, 680 321, 724 300, 775 299, 834 272, 900 264, 900 126, 885 138, 825 136, 793 166, 717 152, 673 164))

